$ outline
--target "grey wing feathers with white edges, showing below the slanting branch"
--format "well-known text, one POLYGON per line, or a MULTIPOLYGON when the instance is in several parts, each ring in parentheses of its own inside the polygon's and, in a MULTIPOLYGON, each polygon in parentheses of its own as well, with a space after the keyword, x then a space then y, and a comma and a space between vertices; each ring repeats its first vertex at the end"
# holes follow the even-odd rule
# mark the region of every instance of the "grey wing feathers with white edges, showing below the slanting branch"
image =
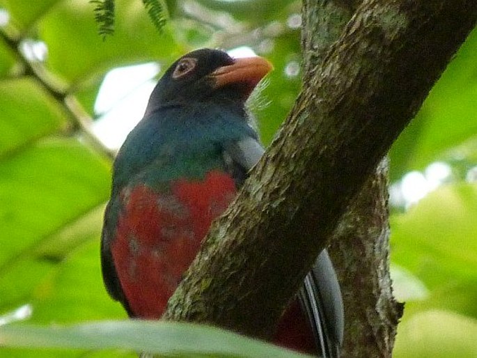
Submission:
POLYGON ((316 259, 305 277, 299 299, 308 320, 321 357, 339 357, 343 344, 344 311, 341 289, 327 250, 316 259))

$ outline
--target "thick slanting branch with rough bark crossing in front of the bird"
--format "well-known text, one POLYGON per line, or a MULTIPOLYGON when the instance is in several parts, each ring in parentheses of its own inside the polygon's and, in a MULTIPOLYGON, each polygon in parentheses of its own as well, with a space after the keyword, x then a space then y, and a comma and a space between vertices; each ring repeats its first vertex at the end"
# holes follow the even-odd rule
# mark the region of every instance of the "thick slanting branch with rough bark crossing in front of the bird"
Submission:
POLYGON ((267 338, 476 19, 474 0, 363 1, 322 63, 308 67, 288 120, 164 317, 267 338))

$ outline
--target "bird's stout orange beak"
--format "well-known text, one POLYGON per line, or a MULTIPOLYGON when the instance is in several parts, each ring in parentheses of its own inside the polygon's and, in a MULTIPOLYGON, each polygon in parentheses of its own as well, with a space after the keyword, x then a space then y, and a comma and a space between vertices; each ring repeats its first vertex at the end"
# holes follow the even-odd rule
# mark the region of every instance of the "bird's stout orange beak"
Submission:
POLYGON ((214 79, 215 88, 228 84, 246 84, 248 96, 260 79, 263 79, 271 70, 273 70, 272 63, 257 56, 235 59, 232 65, 217 68, 210 76, 214 79))

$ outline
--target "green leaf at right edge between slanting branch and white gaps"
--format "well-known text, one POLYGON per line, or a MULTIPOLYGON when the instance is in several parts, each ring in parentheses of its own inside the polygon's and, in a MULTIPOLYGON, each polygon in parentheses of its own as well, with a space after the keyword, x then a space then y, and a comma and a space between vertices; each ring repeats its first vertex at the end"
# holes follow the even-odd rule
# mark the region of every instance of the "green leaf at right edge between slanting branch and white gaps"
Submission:
POLYGON ((477 133, 477 29, 437 81, 419 114, 391 148, 391 180, 421 170, 477 133))

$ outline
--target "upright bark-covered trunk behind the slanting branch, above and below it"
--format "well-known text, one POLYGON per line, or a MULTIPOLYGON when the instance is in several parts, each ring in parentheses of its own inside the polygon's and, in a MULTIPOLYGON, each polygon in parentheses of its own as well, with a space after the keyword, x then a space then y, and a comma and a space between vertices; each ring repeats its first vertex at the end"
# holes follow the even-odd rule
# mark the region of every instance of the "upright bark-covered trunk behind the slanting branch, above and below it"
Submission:
MULTIPOLYGON (((302 48, 306 69, 319 65, 362 1, 304 0, 302 48)), ((308 75, 311 75, 307 71, 308 75)), ((402 305, 389 276, 388 162, 382 160, 338 224, 329 254, 343 292, 341 356, 391 357, 402 305)))

